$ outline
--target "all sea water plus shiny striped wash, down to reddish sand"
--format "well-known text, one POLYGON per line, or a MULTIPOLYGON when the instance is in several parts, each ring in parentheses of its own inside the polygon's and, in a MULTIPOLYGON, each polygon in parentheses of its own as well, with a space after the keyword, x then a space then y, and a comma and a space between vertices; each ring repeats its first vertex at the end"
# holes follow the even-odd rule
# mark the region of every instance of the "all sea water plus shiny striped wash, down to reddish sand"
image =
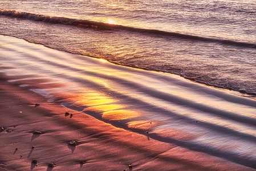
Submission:
POLYGON ((0 9, 9 82, 145 141, 256 169, 255 2, 3 0, 0 9))

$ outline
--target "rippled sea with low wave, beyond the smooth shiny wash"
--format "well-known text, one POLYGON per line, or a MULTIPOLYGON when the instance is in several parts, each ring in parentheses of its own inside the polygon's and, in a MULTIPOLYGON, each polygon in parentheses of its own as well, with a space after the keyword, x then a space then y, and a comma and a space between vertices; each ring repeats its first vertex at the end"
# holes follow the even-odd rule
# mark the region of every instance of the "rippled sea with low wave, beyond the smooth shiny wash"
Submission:
POLYGON ((6 1, 0 34, 256 95, 253 1, 6 1))

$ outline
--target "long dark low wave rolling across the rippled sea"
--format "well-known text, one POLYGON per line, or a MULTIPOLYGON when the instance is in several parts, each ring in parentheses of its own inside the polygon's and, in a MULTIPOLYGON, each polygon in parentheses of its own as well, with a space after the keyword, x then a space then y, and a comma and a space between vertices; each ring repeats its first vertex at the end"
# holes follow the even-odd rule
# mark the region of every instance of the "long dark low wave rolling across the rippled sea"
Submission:
POLYGON ((176 38, 180 38, 180 39, 196 40, 196 41, 201 41, 201 42, 220 43, 220 44, 225 44, 228 46, 256 48, 255 43, 246 43, 246 42, 237 42, 234 40, 205 38, 205 37, 201 37, 201 36, 180 34, 177 32, 168 32, 168 31, 161 31, 161 30, 150 30, 150 29, 145 29, 145 28, 135 28, 135 27, 121 26, 121 25, 112 25, 109 23, 94 22, 94 21, 88 21, 88 20, 84 20, 84 19, 51 17, 51 16, 47 16, 47 15, 31 14, 31 13, 19 12, 19 11, 15 11, 15 10, 0 10, 0 15, 5 15, 5 16, 15 17, 15 18, 30 19, 33 21, 41 21, 41 22, 48 22, 48 23, 55 23, 55 24, 95 28, 95 29, 100 29, 100 30, 127 30, 127 31, 133 31, 133 32, 143 32, 143 33, 147 33, 147 34, 172 36, 172 37, 176 37, 176 38))

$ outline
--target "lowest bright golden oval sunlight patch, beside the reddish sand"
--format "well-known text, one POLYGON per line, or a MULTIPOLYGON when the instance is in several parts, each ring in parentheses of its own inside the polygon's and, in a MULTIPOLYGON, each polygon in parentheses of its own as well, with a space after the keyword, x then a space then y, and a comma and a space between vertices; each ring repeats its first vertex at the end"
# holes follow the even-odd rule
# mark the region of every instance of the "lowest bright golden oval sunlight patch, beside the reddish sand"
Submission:
POLYGON ((103 112, 102 117, 108 120, 123 120, 140 116, 139 113, 127 110, 116 110, 103 112))

